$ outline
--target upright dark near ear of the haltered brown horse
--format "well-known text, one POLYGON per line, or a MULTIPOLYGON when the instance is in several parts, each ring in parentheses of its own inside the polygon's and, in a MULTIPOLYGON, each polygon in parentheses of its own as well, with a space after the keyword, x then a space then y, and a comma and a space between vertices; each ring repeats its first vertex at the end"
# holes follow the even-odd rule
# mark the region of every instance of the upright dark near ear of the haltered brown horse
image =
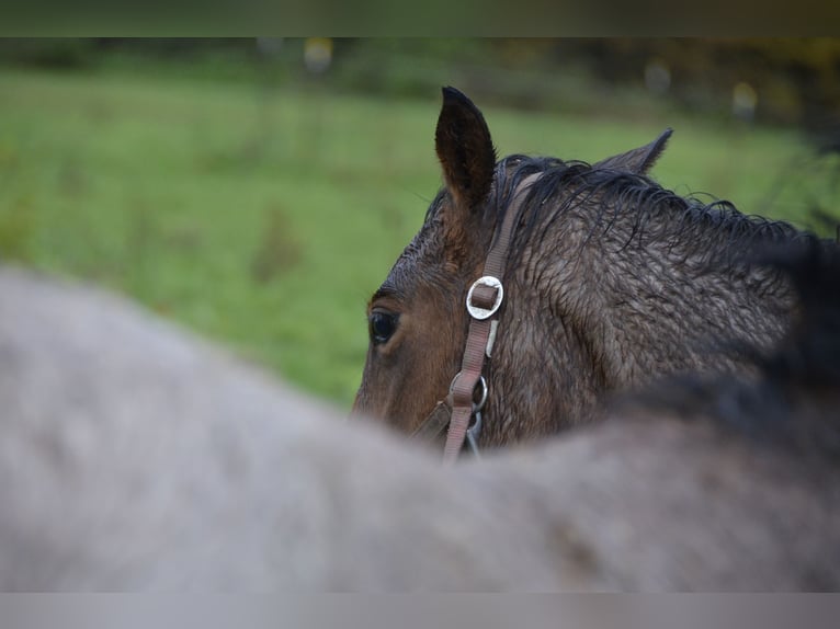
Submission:
POLYGON ((443 88, 434 146, 455 203, 467 209, 478 207, 490 194, 496 150, 481 112, 454 88, 443 88))

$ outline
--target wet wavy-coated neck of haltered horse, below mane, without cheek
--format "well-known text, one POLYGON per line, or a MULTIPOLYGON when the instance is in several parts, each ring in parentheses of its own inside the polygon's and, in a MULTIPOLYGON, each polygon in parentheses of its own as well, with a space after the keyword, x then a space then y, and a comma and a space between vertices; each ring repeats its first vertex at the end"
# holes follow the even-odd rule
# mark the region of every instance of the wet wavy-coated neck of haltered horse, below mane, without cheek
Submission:
POLYGON ((547 235, 560 245, 531 265, 553 268, 542 299, 601 358, 609 388, 733 368, 722 343, 765 347, 779 340, 792 295, 777 273, 736 263, 723 230, 651 231, 663 238, 639 242, 634 224, 627 211, 604 233, 590 217, 569 213, 547 235))

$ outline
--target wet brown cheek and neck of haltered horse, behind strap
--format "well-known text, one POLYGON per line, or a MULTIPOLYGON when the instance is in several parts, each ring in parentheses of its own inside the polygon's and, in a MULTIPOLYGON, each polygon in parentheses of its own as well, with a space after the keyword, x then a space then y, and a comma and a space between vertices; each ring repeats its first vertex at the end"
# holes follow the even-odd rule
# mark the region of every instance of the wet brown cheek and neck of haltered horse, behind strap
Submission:
POLYGON ((608 391, 745 368, 722 344, 767 347, 786 328, 793 298, 777 274, 710 266, 728 245, 725 235, 686 231, 626 244, 629 220, 602 233, 572 211, 537 227, 541 237, 521 250, 507 281, 510 314, 493 366, 495 405, 506 409, 502 423, 520 426, 518 437, 590 419, 608 391), (514 420, 546 415, 552 426, 514 420))

